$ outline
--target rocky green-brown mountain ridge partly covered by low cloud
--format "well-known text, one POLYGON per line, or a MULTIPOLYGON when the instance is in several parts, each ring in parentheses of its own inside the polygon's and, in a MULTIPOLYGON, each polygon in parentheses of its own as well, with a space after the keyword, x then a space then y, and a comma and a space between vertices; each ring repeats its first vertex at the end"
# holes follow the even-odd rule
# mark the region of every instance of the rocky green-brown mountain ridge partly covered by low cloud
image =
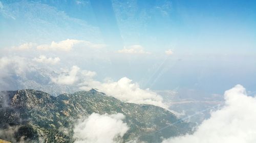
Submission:
POLYGON ((75 121, 94 112, 125 116, 123 122, 130 129, 123 142, 135 138, 161 142, 191 131, 188 123, 166 109, 124 103, 94 89, 57 97, 35 90, 5 91, 0 95, 0 138, 12 142, 74 142, 75 121))

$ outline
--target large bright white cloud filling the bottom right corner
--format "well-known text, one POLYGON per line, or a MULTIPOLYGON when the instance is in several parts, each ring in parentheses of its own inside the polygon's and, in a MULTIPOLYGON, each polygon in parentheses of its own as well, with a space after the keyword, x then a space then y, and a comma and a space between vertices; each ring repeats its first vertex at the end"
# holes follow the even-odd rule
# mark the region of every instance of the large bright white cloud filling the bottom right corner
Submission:
POLYGON ((162 143, 253 143, 256 142, 256 98, 246 95, 242 85, 224 94, 225 106, 211 113, 191 135, 170 138, 162 143))

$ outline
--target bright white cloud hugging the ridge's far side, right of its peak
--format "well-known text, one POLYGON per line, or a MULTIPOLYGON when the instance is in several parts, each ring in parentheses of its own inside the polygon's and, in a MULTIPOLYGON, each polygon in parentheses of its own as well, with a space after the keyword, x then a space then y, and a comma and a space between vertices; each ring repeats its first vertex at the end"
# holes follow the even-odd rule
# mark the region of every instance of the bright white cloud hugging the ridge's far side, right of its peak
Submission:
POLYGON ((162 97, 149 89, 140 89, 138 83, 133 83, 131 79, 123 77, 118 81, 99 82, 93 79, 84 81, 80 87, 81 90, 89 90, 97 88, 99 91, 108 96, 115 97, 123 102, 130 102, 136 104, 152 104, 163 108, 168 108, 162 102, 162 97))

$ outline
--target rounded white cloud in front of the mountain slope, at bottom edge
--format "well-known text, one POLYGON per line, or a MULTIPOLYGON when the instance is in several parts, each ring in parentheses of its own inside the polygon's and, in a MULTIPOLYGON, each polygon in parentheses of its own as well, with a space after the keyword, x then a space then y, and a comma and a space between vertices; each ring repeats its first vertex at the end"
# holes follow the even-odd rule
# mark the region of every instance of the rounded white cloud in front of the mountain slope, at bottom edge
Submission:
POLYGON ((74 127, 75 143, 115 143, 120 142, 121 137, 129 130, 123 123, 124 115, 99 115, 92 113, 88 118, 79 120, 74 127))

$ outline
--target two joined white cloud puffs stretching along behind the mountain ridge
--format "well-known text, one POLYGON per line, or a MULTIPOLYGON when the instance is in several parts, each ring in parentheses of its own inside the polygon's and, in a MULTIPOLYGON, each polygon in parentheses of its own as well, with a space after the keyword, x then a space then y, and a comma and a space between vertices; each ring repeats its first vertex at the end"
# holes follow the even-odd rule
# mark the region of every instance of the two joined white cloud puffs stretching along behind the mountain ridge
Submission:
POLYGON ((118 81, 97 81, 94 79, 96 72, 81 70, 73 66, 70 71, 62 71, 57 77, 52 77, 52 81, 60 85, 73 85, 79 90, 89 91, 92 88, 98 89, 106 96, 115 97, 123 102, 136 104, 151 104, 168 109, 168 105, 163 103, 160 95, 150 89, 140 89, 139 84, 132 82, 127 77, 122 77, 118 81))

